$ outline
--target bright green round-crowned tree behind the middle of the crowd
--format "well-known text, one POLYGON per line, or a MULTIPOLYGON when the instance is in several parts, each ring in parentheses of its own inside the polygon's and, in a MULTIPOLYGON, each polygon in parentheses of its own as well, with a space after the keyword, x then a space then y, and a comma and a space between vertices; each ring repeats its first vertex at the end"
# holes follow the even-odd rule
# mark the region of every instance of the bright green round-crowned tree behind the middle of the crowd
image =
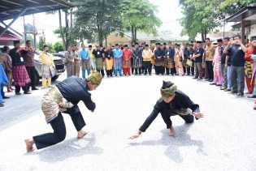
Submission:
POLYGON ((155 15, 157 6, 154 6, 148 0, 130 0, 124 6, 122 12, 122 21, 124 28, 132 31, 132 42, 137 41, 137 31, 147 33, 157 33, 157 27, 162 22, 155 15))

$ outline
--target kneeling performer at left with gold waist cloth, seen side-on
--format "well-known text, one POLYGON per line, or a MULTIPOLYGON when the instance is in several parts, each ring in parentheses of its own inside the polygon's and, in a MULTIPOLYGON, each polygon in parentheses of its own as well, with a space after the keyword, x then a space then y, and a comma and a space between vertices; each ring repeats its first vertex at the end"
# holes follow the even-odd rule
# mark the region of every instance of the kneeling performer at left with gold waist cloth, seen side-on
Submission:
POLYGON ((85 106, 93 112, 96 105, 91 100, 89 91, 95 90, 101 81, 102 75, 98 72, 93 72, 88 79, 72 76, 50 88, 50 91, 43 96, 41 110, 46 116, 46 122, 50 123, 54 132, 26 139, 27 152, 35 150, 34 144, 37 149, 41 149, 60 143, 65 139, 66 126, 62 113, 70 115, 77 130, 77 138, 83 138, 87 132, 82 130, 85 126, 85 121, 77 104, 82 100, 85 106))

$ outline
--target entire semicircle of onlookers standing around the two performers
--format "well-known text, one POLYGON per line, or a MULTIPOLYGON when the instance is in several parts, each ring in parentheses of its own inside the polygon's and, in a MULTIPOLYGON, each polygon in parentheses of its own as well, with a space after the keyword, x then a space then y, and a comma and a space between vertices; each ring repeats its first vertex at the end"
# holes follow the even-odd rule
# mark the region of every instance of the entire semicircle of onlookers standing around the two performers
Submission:
MULTIPOLYGON (((15 41, 15 48, 9 50, 7 46, 2 49, 0 62, 7 80, 0 82, 2 96, 0 106, 3 105, 3 86, 7 91, 13 91, 12 80, 15 84, 15 94, 20 95, 20 88, 24 94, 29 94, 29 88, 37 90, 35 85, 35 67, 33 56, 35 50, 31 42, 20 49, 20 42, 15 41)), ((47 88, 54 75, 54 62, 45 45, 41 53, 42 86, 47 88)), ((173 44, 157 43, 129 47, 128 45, 115 45, 103 47, 102 45, 81 44, 71 45, 65 53, 67 77, 75 75, 86 78, 92 71, 98 71, 102 77, 128 76, 128 75, 192 75, 193 79, 209 81, 211 85, 219 86, 225 92, 242 97, 248 94, 249 98, 256 97, 256 37, 252 37, 247 45, 243 45, 241 36, 225 37, 216 43, 206 38, 205 42, 194 41, 190 43, 173 44), (245 83, 248 92, 245 91, 245 83)), ((3 75, 3 72, 1 75, 3 75)), ((3 76, 1 76, 3 78, 3 76)), ((256 109, 256 100, 254 103, 256 109)))

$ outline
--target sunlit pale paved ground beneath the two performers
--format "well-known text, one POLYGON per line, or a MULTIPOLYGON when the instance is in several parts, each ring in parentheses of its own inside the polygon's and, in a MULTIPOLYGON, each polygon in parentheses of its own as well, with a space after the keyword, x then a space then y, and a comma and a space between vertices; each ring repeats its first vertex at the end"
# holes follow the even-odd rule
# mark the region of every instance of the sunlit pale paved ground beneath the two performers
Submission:
POLYGON ((1 171, 84 170, 256 170, 256 112, 253 101, 219 91, 190 77, 132 76, 104 79, 93 92, 95 113, 83 104, 85 139, 76 139, 71 119, 67 139, 54 147, 27 154, 24 139, 51 131, 40 110, 46 90, 15 96, 0 109, 1 171), (171 79, 201 105, 203 118, 184 125, 172 118, 176 138, 170 138, 158 116, 149 130, 134 141, 135 133, 159 97, 163 79, 171 79))

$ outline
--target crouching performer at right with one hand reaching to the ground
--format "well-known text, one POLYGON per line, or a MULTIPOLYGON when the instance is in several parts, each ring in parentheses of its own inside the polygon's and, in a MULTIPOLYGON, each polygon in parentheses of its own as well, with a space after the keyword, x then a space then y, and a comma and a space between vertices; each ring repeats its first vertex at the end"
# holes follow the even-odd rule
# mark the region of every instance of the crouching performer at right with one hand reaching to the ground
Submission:
POLYGON ((175 135, 175 130, 170 119, 172 116, 179 115, 186 123, 193 123, 194 117, 196 119, 203 117, 202 113, 200 113, 199 105, 194 104, 193 101, 189 99, 189 96, 177 90, 174 83, 163 81, 161 95, 162 97, 157 101, 156 105, 154 105, 150 116, 146 118, 137 134, 132 135, 130 139, 137 139, 142 132, 145 132, 154 119, 157 118, 158 113, 161 113, 163 121, 167 125, 167 129, 169 129, 170 136, 175 135))

